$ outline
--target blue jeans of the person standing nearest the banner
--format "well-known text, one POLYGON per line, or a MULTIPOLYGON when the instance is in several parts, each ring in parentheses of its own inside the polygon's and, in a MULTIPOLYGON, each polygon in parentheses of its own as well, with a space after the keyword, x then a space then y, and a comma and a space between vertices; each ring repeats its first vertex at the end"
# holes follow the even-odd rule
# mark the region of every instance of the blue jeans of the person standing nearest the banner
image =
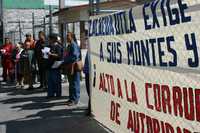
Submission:
POLYGON ((80 72, 68 75, 69 80, 69 99, 78 102, 80 99, 80 72))

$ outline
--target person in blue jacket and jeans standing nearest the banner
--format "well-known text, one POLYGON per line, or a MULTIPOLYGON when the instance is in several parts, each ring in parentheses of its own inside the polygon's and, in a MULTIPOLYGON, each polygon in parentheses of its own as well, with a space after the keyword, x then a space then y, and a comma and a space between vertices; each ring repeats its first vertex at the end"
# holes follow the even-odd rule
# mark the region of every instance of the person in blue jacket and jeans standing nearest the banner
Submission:
MULTIPOLYGON (((71 32, 67 33, 67 54, 64 57, 64 64, 70 65, 79 60, 81 60, 81 50, 76 42, 75 35, 71 32)), ((73 71, 68 72, 69 81, 69 100, 67 102, 68 106, 73 106, 78 104, 80 99, 80 72, 73 71)))

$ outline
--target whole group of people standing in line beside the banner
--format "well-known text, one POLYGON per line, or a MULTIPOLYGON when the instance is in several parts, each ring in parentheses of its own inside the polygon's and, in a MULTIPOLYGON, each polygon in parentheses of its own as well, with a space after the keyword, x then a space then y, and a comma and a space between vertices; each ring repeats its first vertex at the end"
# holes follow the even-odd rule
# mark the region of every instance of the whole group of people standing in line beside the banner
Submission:
MULTIPOLYGON (((28 85, 27 90, 34 90, 38 75, 38 89, 47 90, 47 98, 62 96, 61 74, 65 72, 69 81, 69 100, 67 105, 78 104, 80 99, 80 78, 82 67, 81 49, 76 36, 67 33, 67 47, 64 47, 58 34, 50 34, 48 38, 43 31, 35 41, 31 34, 26 35, 24 43, 12 45, 9 38, 0 47, 3 66, 3 81, 14 82, 17 86, 28 85), (79 69, 78 69, 79 68, 79 69)), ((87 54, 83 71, 86 74, 86 87, 89 95, 89 56, 87 54)))

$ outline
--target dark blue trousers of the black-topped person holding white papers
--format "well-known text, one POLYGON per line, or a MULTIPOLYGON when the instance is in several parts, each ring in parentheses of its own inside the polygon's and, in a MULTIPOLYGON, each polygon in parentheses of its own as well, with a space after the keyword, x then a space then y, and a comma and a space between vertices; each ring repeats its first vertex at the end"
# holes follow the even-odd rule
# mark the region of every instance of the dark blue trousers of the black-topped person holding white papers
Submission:
POLYGON ((59 69, 50 69, 48 71, 48 94, 47 96, 61 96, 61 73, 59 69))

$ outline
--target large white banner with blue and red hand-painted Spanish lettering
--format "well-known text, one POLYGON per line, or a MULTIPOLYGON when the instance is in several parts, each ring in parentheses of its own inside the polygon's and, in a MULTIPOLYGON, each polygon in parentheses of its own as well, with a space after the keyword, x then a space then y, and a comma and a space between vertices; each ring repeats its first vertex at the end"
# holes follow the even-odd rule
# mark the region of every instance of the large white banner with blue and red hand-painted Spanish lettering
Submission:
POLYGON ((89 21, 92 112, 116 133, 200 133, 200 0, 89 21))

